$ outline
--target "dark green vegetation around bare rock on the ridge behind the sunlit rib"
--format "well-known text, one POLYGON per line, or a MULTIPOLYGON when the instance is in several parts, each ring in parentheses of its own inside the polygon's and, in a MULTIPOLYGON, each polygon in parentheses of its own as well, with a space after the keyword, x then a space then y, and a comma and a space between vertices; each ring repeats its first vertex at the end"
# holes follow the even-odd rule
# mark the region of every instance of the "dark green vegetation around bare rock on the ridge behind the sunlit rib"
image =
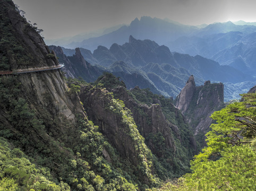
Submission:
MULTIPOLYGON (((118 89, 120 86, 125 88, 125 84, 110 73, 101 75, 95 84, 106 88, 108 91, 114 91, 114 89, 118 89)), ((163 170, 161 169, 158 172, 159 175, 162 175, 162 177, 160 177, 162 179, 166 179, 166 177, 180 177, 184 173, 190 172, 189 161, 196 153, 195 148, 191 146, 190 141, 193 137, 192 129, 185 123, 181 112, 174 107, 173 100, 165 98, 163 95, 154 94, 149 89, 141 90, 139 88, 134 88, 127 90, 127 93, 131 99, 138 103, 136 108, 133 108, 138 111, 136 114, 146 118, 148 125, 151 125, 152 116, 148 116, 140 106, 146 104, 150 107, 153 103, 156 103, 160 104, 166 119, 178 128, 176 132, 172 133, 176 148, 175 152, 171 149, 167 149, 165 137, 161 132, 150 133, 147 137, 144 137, 145 142, 150 149, 153 149, 152 146, 150 146, 150 143, 152 143, 154 145, 153 147, 156 148, 155 150, 164 153, 164 157, 158 158, 161 166, 164 167, 164 171, 161 171, 163 170), (180 137, 180 139, 178 137, 180 137)), ((116 99, 121 99, 121 95, 118 94, 118 91, 114 91, 114 97, 116 99)), ((140 124, 136 125, 138 126, 139 131, 141 131, 140 124)))

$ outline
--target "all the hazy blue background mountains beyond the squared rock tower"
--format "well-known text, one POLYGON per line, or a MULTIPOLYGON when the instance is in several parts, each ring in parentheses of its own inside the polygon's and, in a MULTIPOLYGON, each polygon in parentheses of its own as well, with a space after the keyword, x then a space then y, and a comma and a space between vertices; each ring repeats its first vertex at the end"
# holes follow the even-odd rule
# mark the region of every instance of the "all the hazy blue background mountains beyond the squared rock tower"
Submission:
POLYGON ((191 74, 199 85, 205 80, 224 82, 228 101, 255 84, 253 24, 229 21, 196 27, 142 16, 129 26, 65 45, 71 49, 63 47, 63 51, 72 56, 74 48, 80 47, 90 64, 103 66, 120 77, 140 74, 166 96, 175 97, 191 74))

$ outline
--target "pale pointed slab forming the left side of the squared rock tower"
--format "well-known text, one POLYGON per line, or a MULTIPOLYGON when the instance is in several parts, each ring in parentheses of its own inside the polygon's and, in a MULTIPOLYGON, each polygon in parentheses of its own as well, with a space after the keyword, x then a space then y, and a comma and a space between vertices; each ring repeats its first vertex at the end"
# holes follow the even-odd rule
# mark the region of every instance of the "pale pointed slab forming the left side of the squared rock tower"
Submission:
POLYGON ((193 98, 195 92, 195 81, 194 76, 191 75, 189 80, 187 80, 186 85, 181 90, 181 93, 178 94, 176 107, 180 109, 183 113, 189 109, 190 102, 193 98))

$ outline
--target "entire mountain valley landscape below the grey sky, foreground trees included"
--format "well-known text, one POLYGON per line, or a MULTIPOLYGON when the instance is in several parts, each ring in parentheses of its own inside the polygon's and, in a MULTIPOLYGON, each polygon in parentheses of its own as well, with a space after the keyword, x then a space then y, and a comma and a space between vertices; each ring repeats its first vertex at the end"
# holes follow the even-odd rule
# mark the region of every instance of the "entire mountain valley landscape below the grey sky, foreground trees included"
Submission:
POLYGON ((254 25, 142 16, 47 46, 0 4, 0 190, 256 189, 254 25))

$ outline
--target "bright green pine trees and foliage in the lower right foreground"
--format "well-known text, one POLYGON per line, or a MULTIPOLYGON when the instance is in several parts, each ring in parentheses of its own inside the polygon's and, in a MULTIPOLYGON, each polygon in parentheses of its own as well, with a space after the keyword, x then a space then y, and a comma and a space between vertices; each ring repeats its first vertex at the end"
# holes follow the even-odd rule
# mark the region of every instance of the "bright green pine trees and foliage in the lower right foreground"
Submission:
POLYGON ((206 134, 207 147, 195 155, 192 173, 160 190, 255 190, 256 189, 256 94, 243 94, 214 112, 206 134))

